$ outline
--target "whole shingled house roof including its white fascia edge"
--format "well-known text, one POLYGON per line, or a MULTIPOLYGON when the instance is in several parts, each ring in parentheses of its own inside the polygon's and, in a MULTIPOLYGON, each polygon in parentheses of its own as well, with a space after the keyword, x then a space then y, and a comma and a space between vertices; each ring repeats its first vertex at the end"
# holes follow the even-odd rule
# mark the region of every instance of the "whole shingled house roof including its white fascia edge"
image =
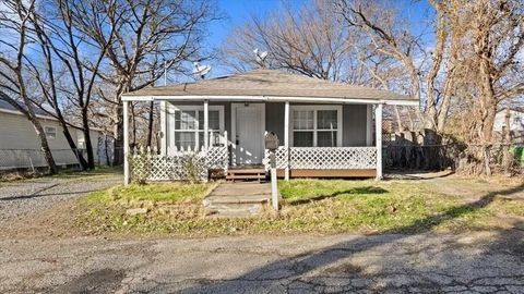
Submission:
POLYGON ((128 101, 209 99, 418 106, 418 100, 410 96, 275 70, 254 70, 194 83, 143 88, 124 94, 122 99, 128 101))

